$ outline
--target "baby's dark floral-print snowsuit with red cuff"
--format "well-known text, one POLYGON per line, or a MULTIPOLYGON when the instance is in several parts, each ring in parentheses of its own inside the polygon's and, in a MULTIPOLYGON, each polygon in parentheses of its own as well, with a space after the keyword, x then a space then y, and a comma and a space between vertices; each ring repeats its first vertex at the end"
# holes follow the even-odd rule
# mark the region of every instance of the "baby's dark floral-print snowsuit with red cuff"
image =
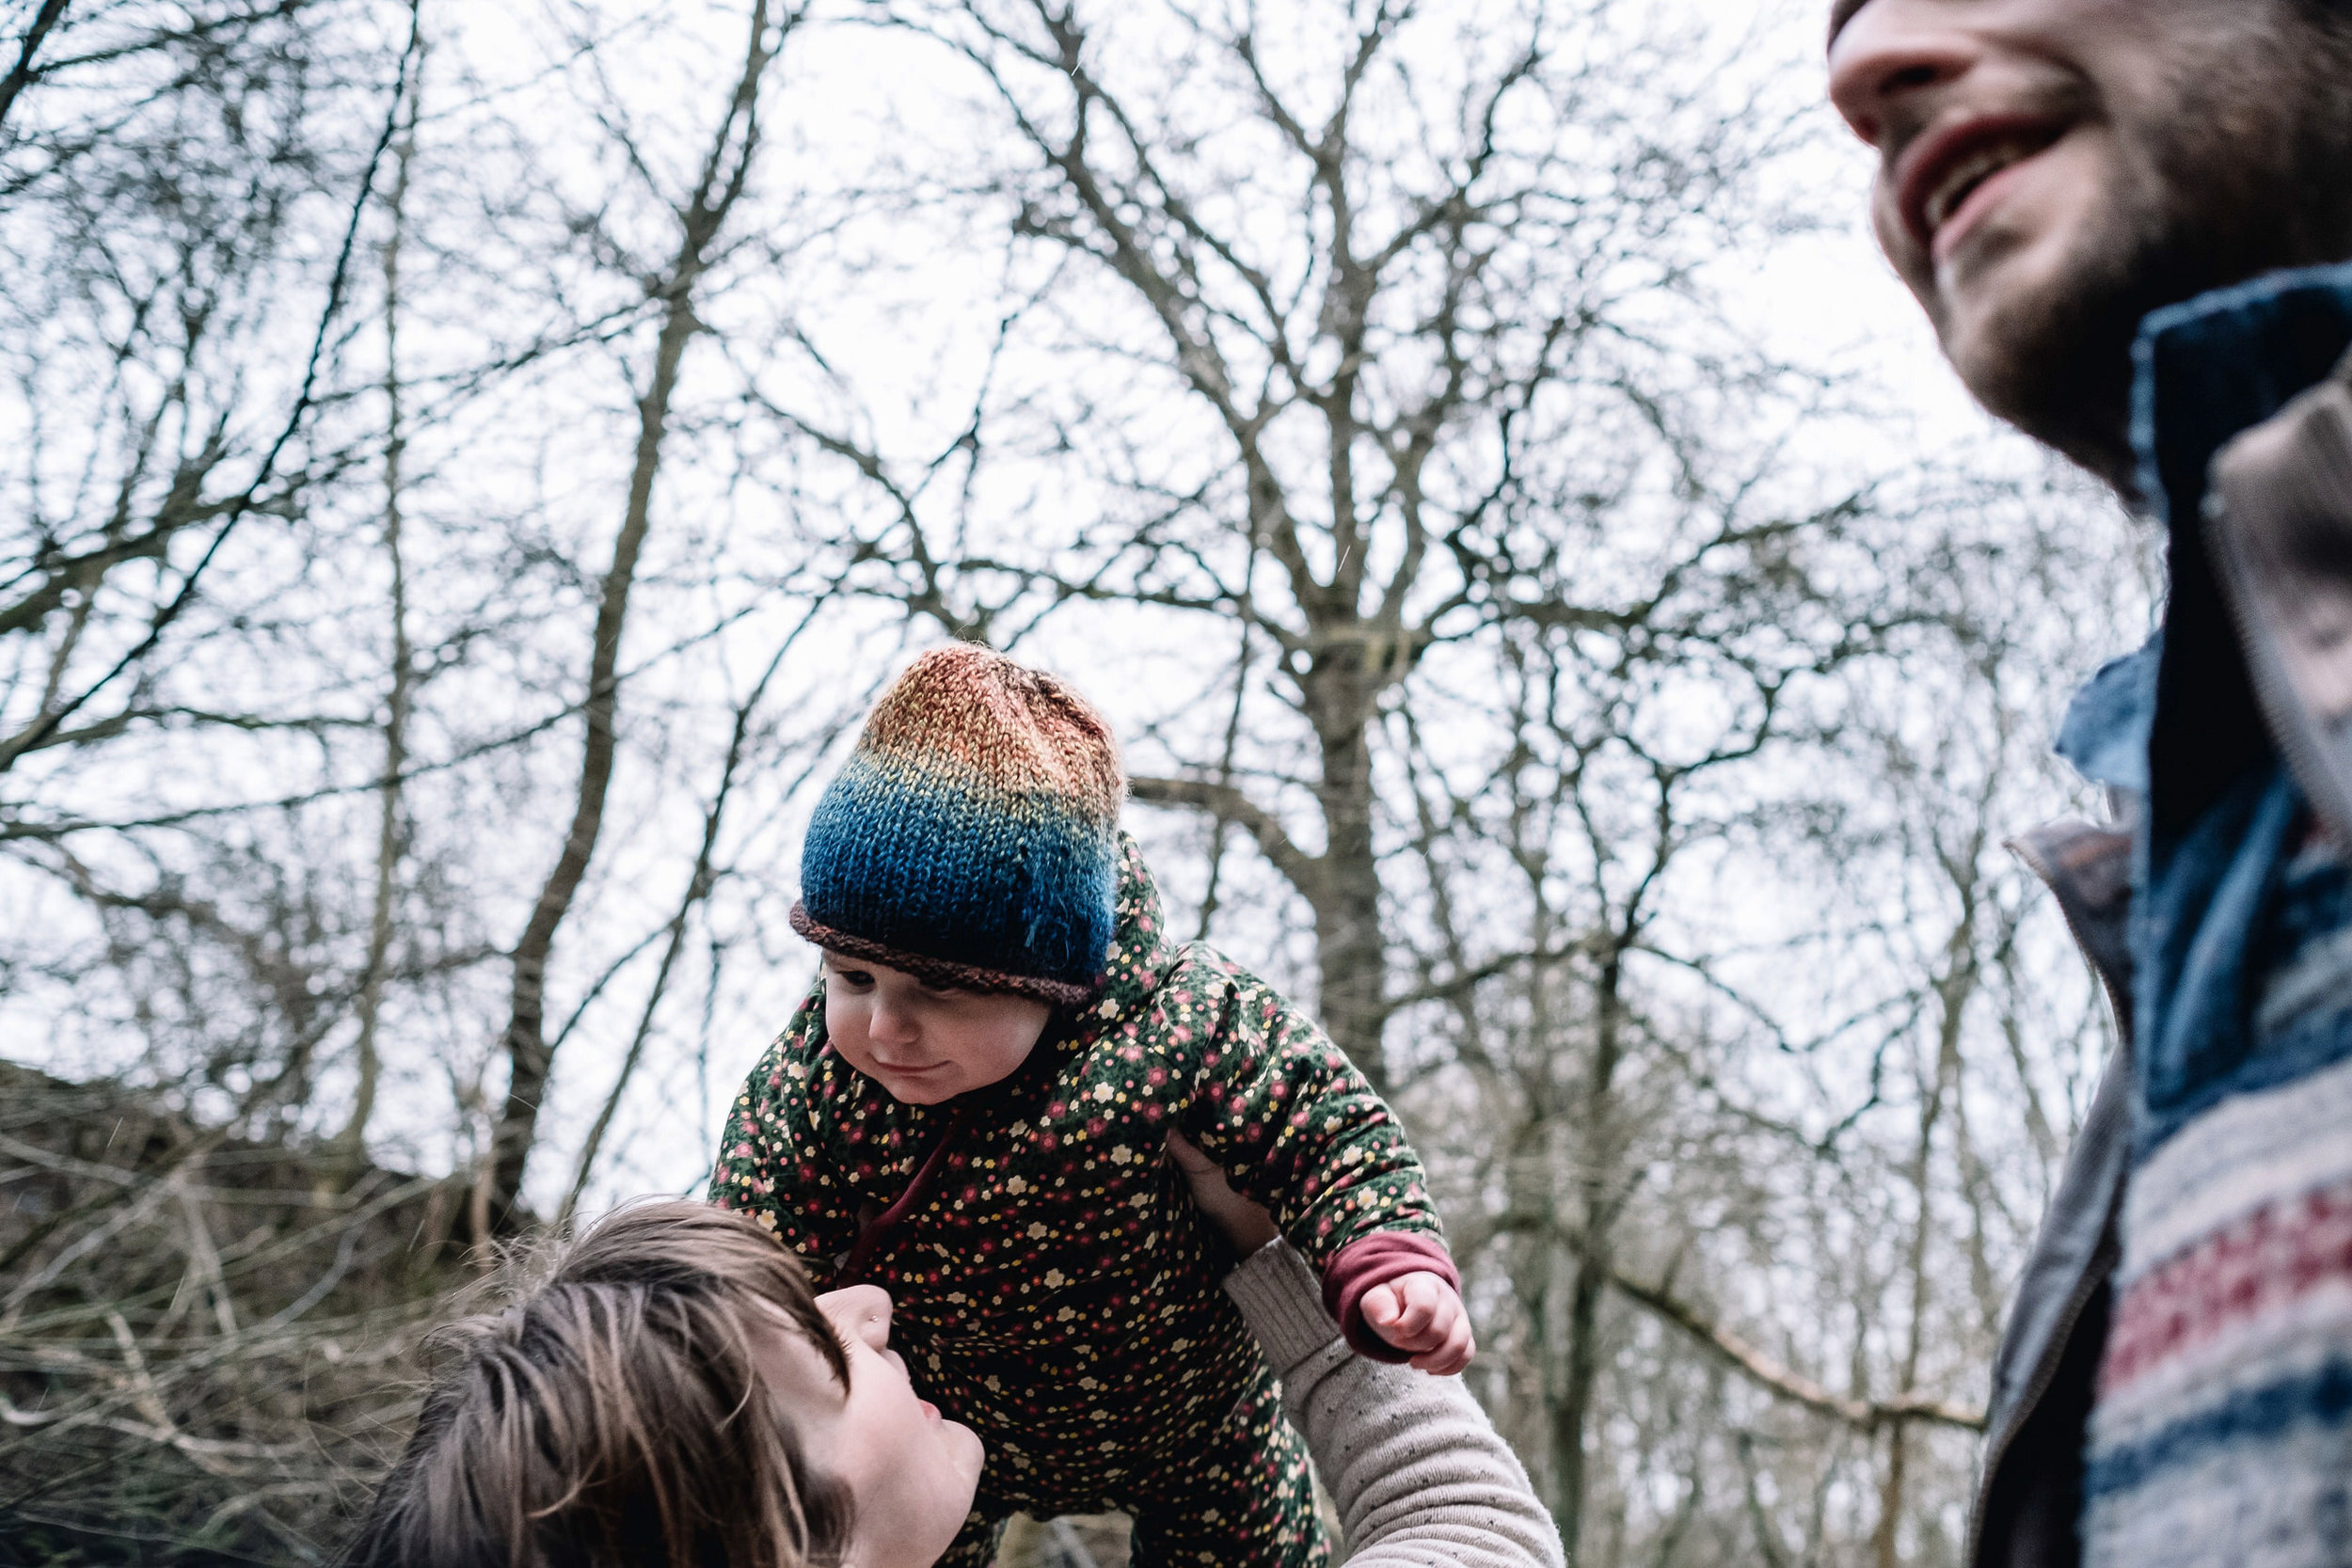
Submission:
MULTIPOLYGON (((1181 1128, 1310 1262, 1367 1237, 1430 1251, 1392 1112, 1265 983, 1174 947, 1122 844, 1110 978, 1002 1084, 901 1105, 826 1048, 823 978, 727 1121, 713 1199, 818 1281, 870 1281, 917 1389, 988 1446, 943 1563, 1002 1521, 1127 1509, 1134 1563, 1327 1559, 1272 1373, 1218 1288, 1232 1258, 1164 1154, 1181 1128)), ((1442 1253, 1439 1253, 1442 1255, 1442 1253)))

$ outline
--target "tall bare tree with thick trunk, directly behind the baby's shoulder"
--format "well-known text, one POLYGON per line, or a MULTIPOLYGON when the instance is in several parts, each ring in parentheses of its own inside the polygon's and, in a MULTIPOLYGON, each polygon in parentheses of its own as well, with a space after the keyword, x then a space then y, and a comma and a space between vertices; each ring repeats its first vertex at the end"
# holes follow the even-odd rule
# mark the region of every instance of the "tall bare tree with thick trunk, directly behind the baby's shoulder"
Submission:
MULTIPOLYGON (((1470 24, 1359 5, 1305 33, 1254 7, 1152 7, 1117 28, 1044 0, 875 9, 953 47, 995 96, 1018 153, 993 169, 1009 240, 1030 270, 1068 277, 1016 303, 1028 350, 1124 364, 1136 383, 1075 369, 1058 404, 1009 386, 948 454, 978 468, 997 447, 1035 449, 1023 416, 1077 447, 1120 522, 1077 529, 1077 559, 1054 567, 960 552, 948 531, 964 524, 927 517, 887 454, 800 421, 903 503, 842 543, 889 569, 875 592, 955 635, 1016 637, 1021 614, 1070 599, 1240 618, 1303 722, 1308 766, 1284 783, 1312 835, 1207 757, 1134 790, 1209 813, 1218 839, 1237 825, 1268 856, 1312 910, 1327 1027, 1385 1081, 1383 703, 1432 649, 1524 616, 1623 625, 1623 604, 1548 602, 1578 564, 1545 520, 1566 480, 1557 447, 1625 442, 1576 475, 1595 522, 1646 503, 1637 473, 1675 461, 1668 407, 1691 355, 1738 350, 1677 357, 1639 315, 1661 299, 1705 315, 1696 259, 1755 221, 1733 209, 1783 125, 1698 113, 1663 68, 1670 38, 1576 49, 1609 7, 1494 5, 1470 24), (1127 42, 1148 28, 1164 38, 1127 42), (1423 40, 1463 47, 1461 71, 1416 75, 1423 40), (1653 73, 1639 110, 1613 89, 1628 68, 1653 73), (1169 428, 1214 458, 1164 458, 1169 428)), ((1837 515, 1726 508, 1712 536, 1675 543, 1726 562, 1837 515)), ((1651 592, 1672 597, 1677 576, 1651 592)))

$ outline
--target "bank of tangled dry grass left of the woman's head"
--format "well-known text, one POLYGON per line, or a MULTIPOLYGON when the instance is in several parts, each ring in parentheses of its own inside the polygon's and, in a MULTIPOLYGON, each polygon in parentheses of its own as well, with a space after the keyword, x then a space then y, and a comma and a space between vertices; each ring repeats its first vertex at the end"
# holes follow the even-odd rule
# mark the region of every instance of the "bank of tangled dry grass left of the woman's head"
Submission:
POLYGON ((0 1063, 0 1563, 320 1563, 470 1272, 445 1182, 0 1063))

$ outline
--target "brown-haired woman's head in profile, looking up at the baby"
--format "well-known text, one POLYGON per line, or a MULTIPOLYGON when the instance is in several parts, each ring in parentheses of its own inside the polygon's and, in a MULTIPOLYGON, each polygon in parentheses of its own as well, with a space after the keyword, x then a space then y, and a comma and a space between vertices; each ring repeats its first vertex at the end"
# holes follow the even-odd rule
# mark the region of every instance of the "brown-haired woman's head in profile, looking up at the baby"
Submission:
POLYGON ((743 1215, 623 1208, 445 1331, 350 1568, 917 1568, 978 1439, 922 1403, 882 1291, 816 1295, 743 1215))

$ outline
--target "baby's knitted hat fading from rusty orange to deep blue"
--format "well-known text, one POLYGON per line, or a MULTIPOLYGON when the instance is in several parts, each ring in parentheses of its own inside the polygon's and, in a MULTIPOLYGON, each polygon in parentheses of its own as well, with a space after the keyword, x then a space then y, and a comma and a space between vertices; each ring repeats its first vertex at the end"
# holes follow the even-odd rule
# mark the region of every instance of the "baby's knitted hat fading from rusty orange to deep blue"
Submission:
POLYGON ((960 642, 891 682, 809 818, 793 929, 936 985, 1087 1001, 1127 776, 1051 675, 960 642))

